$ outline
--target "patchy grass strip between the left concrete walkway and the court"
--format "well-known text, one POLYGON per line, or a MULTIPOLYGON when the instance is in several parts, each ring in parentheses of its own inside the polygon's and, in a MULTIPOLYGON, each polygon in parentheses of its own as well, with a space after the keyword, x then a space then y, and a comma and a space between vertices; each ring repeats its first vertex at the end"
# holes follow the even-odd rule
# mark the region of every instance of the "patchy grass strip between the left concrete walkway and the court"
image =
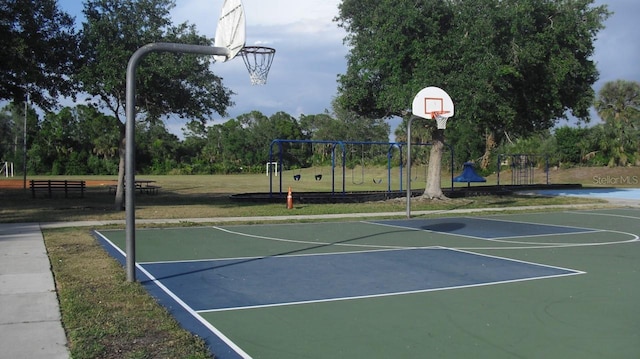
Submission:
POLYGON ((43 234, 74 359, 212 358, 86 229, 43 234))

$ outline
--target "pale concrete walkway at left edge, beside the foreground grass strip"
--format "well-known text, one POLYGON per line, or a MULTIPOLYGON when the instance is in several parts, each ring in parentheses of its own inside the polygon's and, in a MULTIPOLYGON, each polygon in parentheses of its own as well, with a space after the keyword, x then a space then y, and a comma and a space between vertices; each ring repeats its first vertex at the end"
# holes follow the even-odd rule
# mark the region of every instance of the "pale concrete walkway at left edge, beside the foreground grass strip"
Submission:
POLYGON ((0 358, 69 358, 37 223, 0 223, 0 358))

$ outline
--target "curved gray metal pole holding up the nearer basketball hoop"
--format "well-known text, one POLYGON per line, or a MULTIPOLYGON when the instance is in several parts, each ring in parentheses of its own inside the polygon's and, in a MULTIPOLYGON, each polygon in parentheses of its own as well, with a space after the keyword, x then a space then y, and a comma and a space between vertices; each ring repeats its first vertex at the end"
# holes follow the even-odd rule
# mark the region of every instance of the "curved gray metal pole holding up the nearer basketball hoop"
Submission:
POLYGON ((135 119, 136 119, 136 68, 144 56, 150 52, 181 52, 199 55, 229 57, 226 47, 174 44, 157 42, 142 46, 133 53, 127 65, 126 117, 125 124, 125 233, 127 280, 136 280, 136 207, 135 207, 135 119))

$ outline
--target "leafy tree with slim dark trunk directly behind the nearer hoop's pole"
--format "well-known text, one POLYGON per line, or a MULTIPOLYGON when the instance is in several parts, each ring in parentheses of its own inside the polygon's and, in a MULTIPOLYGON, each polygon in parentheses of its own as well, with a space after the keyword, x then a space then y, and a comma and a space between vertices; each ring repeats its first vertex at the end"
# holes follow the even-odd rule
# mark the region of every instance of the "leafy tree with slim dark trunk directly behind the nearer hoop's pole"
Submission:
MULTIPOLYGON (((131 55, 153 42, 211 45, 192 25, 173 25, 173 0, 87 0, 81 31, 82 68, 75 76, 82 90, 122 123, 116 208, 124 198, 124 113, 126 68, 131 55)), ((210 59, 191 54, 153 53, 137 71, 136 107, 144 121, 161 121, 177 114, 188 120, 206 121, 226 115, 232 92, 210 69, 210 59)))

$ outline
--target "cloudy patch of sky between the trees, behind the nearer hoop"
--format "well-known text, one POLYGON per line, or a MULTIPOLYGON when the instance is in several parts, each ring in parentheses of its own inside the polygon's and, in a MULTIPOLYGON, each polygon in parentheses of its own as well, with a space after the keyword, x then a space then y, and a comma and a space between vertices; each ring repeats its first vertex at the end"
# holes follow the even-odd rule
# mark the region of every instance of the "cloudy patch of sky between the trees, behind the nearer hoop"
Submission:
MULTIPOLYGON (((267 85, 252 86, 240 58, 214 64, 214 71, 236 93, 229 117, 257 110, 270 116, 284 111, 292 116, 330 109, 338 73, 346 70, 345 33, 333 22, 339 0, 244 0, 247 45, 276 49, 267 85)), ((172 15, 175 23, 195 24, 215 36, 223 0, 182 0, 172 15)), ((219 122, 222 119, 217 119, 219 122)))

